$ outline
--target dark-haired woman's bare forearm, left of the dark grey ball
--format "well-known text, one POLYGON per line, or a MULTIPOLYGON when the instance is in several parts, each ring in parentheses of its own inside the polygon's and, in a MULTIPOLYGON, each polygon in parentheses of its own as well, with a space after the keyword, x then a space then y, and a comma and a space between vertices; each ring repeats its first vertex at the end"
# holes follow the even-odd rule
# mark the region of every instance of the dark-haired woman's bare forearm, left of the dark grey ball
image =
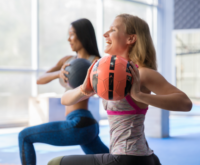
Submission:
POLYGON ((50 81, 59 78, 60 71, 45 73, 37 79, 37 84, 47 84, 50 81))

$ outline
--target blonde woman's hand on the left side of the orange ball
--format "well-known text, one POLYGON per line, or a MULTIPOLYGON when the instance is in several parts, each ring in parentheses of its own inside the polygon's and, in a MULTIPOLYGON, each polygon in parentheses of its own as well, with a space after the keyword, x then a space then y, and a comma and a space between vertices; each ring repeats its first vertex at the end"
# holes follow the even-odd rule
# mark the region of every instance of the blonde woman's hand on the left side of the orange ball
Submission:
POLYGON ((85 80, 83 82, 83 85, 82 85, 82 90, 87 93, 88 95, 92 95, 94 94, 94 90, 91 86, 91 83, 90 83, 90 73, 91 73, 91 70, 94 66, 94 64, 97 62, 97 60, 95 60, 92 65, 89 67, 88 71, 87 71, 87 75, 85 77, 85 80))

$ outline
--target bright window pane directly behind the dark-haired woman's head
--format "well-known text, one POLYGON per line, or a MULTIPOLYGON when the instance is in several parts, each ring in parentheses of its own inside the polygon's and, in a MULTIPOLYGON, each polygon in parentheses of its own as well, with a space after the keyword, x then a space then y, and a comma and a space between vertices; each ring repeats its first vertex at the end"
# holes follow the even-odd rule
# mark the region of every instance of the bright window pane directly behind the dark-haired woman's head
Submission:
POLYGON ((96 0, 40 0, 39 67, 47 69, 65 55, 72 55, 68 27, 72 21, 89 19, 96 27, 96 0))

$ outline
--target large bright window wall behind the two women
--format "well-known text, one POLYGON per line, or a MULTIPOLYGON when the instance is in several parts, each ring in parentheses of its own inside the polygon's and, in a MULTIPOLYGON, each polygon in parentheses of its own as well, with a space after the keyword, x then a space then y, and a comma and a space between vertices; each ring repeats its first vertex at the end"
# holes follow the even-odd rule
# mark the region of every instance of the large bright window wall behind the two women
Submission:
POLYGON ((120 13, 146 20, 155 38, 157 1, 140 2, 0 0, 0 127, 26 125, 31 96, 63 94, 58 80, 37 86, 36 79, 63 56, 75 55, 67 41, 72 21, 87 18, 92 22, 102 56, 103 32, 120 13))

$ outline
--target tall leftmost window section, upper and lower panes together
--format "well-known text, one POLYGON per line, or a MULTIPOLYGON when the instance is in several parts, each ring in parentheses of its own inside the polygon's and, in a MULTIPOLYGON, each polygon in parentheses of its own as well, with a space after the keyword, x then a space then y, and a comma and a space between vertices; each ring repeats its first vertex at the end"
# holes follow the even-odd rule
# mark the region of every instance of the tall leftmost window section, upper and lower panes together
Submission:
POLYGON ((0 123, 27 121, 31 96, 31 2, 0 1, 0 123))

